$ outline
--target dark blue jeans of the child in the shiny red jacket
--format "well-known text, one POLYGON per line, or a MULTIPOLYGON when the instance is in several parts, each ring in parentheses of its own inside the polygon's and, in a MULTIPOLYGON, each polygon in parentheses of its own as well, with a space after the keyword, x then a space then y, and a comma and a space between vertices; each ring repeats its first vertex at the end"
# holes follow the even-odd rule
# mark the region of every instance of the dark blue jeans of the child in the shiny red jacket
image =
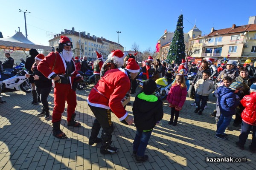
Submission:
POLYGON ((241 134, 239 135, 239 143, 241 145, 245 144, 246 139, 248 138, 248 135, 252 127, 253 127, 253 139, 252 139, 251 145, 253 148, 256 148, 256 126, 249 125, 244 121, 242 122, 242 125, 241 125, 241 134))

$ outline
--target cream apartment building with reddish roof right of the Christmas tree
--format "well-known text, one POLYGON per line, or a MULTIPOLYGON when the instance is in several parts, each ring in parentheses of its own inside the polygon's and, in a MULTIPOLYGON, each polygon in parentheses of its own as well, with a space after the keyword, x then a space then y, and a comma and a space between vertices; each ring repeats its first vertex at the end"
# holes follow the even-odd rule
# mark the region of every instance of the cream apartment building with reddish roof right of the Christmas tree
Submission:
POLYGON ((195 62, 214 58, 221 63, 224 57, 244 63, 246 59, 256 60, 256 16, 249 17, 244 26, 233 24, 230 28, 215 30, 212 28, 207 36, 189 40, 195 62))

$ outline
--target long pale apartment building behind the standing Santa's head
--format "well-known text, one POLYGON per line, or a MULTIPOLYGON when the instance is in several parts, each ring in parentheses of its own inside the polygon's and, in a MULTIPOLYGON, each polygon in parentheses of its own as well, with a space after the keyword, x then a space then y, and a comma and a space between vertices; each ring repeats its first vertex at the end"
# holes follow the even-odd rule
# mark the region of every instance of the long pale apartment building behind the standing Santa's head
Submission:
POLYGON ((48 41, 49 46, 54 48, 54 50, 58 47, 61 35, 67 36, 70 41, 73 42, 72 51, 74 57, 83 57, 84 55, 87 55, 88 60, 95 60, 97 59, 97 54, 94 51, 98 51, 104 58, 107 58, 112 50, 117 49, 117 46, 119 50, 124 50, 122 45, 117 45, 116 42, 106 40, 103 37, 98 38, 95 35, 90 36, 90 33, 86 34, 85 31, 77 32, 74 27, 72 30, 65 29, 64 31, 61 31, 61 34, 54 35, 54 38, 48 41))

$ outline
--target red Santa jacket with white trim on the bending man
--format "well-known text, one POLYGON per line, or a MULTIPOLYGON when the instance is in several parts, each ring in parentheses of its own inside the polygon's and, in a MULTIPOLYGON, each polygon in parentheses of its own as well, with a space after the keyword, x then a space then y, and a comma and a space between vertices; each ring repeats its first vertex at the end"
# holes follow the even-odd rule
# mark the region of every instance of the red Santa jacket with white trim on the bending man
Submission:
POLYGON ((105 73, 98 84, 92 88, 87 98, 89 105, 111 109, 111 111, 121 120, 128 115, 122 106, 121 100, 127 91, 130 90, 131 82, 127 72, 122 68, 109 70, 105 73))

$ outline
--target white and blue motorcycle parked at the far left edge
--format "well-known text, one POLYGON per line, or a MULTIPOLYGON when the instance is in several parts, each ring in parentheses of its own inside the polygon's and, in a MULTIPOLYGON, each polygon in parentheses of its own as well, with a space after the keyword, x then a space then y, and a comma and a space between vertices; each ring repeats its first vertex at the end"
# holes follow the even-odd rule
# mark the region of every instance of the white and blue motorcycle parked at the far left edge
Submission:
POLYGON ((26 74, 28 72, 25 68, 15 68, 14 71, 1 73, 0 85, 2 86, 2 92, 31 92, 32 85, 29 83, 29 79, 25 77, 26 74))

